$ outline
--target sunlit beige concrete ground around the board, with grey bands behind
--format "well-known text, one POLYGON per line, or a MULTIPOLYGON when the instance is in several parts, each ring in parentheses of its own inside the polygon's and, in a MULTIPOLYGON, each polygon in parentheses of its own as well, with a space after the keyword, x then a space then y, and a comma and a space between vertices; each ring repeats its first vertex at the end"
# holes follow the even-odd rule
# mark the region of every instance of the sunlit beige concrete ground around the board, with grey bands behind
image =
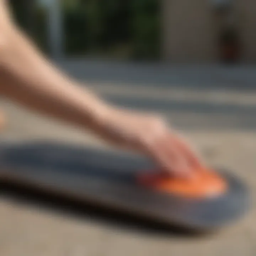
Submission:
MULTIPOLYGON (((256 79, 250 68, 170 68, 168 72, 152 66, 127 71, 123 65, 117 66, 117 81, 113 66, 109 70, 101 66, 97 74, 95 65, 62 65, 80 79, 90 80, 92 88, 113 103, 164 114, 209 164, 229 168, 247 182, 252 209, 217 233, 185 236, 100 210, 49 204, 46 199, 2 189, 1 256, 256 255, 256 90, 252 87, 256 79)), ((47 139, 112 150, 88 133, 40 118, 9 101, 2 100, 1 108, 9 119, 1 135, 4 140, 47 139)))

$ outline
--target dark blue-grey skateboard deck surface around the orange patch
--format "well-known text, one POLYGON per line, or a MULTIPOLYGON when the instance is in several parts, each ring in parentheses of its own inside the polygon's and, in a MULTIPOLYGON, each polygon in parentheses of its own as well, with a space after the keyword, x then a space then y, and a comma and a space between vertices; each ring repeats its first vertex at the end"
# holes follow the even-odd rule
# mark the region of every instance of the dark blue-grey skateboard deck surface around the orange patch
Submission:
MULTIPOLYGON (((138 215, 166 225, 194 230, 222 227, 248 208, 244 183, 218 170, 225 181, 219 194, 176 194, 165 186, 146 186, 143 175, 158 175, 150 164, 130 156, 53 143, 0 147, 0 180, 138 215)), ((158 183, 159 184, 159 183, 158 183)))

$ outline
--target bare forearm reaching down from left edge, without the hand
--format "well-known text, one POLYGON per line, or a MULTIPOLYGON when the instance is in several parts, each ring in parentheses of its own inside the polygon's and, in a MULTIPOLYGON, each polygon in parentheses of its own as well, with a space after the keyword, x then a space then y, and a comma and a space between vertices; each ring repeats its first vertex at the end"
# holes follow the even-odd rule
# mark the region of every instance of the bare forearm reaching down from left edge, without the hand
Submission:
POLYGON ((1 94, 32 110, 83 127, 94 126, 105 114, 105 103, 51 65, 17 28, 6 28, 3 38, 1 94))

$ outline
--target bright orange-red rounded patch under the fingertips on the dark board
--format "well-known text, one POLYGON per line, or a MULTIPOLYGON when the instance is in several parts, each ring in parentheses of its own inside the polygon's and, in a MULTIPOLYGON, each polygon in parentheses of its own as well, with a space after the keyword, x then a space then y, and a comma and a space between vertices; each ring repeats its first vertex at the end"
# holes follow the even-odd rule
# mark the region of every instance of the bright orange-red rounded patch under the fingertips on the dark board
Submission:
POLYGON ((227 183, 213 170, 195 170, 191 179, 171 177, 159 172, 144 172, 138 175, 138 183, 160 192, 171 193, 187 198, 218 197, 227 190, 227 183))

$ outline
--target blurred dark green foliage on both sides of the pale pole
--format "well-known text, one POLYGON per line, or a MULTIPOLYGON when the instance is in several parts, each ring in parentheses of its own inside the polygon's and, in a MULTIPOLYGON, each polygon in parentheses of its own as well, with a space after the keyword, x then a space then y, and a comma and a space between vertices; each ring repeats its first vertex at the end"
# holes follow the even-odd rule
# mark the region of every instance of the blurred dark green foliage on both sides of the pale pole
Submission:
MULTIPOLYGON (((46 10, 33 0, 11 2, 17 21, 47 51, 46 10)), ((158 59, 159 4, 159 0, 62 0, 66 54, 158 59)))

